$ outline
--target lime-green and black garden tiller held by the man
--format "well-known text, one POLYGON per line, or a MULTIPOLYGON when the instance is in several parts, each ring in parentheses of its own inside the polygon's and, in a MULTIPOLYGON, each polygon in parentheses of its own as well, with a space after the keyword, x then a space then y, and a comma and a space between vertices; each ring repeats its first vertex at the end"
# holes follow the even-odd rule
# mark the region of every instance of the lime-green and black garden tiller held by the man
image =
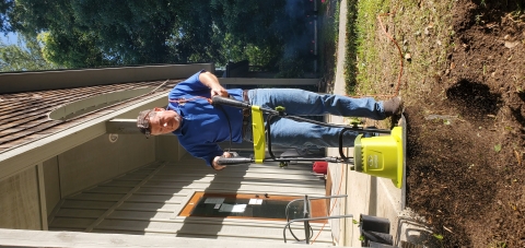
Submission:
POLYGON ((264 162, 318 162, 349 163, 352 169, 359 173, 369 174, 376 177, 392 179, 397 188, 402 187, 404 177, 404 152, 406 147, 406 132, 402 127, 395 127, 392 130, 361 128, 358 126, 343 126, 325 123, 298 116, 290 116, 284 107, 276 109, 261 108, 246 102, 236 101, 229 97, 214 96, 213 105, 224 105, 242 109, 252 110, 252 130, 254 141, 255 157, 221 157, 218 161, 220 165, 240 165, 246 163, 262 164, 264 162), (267 115, 266 126, 262 115, 267 115), (289 118, 296 121, 306 121, 325 127, 342 128, 339 132, 339 155, 340 157, 277 157, 271 151, 271 139, 269 133, 270 122, 273 118, 289 118), (353 157, 347 157, 342 151, 342 134, 347 131, 360 133, 354 140, 353 157), (365 137, 366 133, 382 133, 383 135, 365 137), (387 135, 389 134, 389 135, 387 135), (266 145, 268 143, 268 145, 266 145), (268 147, 269 157, 267 157, 266 147, 268 147))

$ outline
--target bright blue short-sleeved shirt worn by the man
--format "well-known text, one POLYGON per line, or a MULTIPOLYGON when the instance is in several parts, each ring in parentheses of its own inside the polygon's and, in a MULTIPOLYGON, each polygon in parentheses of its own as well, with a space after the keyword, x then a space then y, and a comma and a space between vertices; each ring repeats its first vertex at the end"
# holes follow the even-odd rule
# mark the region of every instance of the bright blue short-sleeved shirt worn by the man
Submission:
MULTIPOLYGON (((177 111, 183 117, 180 127, 173 132, 178 137, 180 145, 189 154, 205 160, 206 164, 211 166, 213 158, 223 154, 218 143, 230 141, 230 125, 232 142, 241 143, 243 141, 243 110, 229 106, 214 107, 208 103, 206 98, 211 96, 211 90, 199 81, 201 72, 203 71, 178 83, 170 92, 167 97, 171 102, 167 108, 177 111), (188 102, 173 102, 180 99, 188 99, 188 102), (224 111, 220 109, 221 107, 224 111)), ((228 90, 228 93, 235 99, 243 101, 243 90, 228 90)))

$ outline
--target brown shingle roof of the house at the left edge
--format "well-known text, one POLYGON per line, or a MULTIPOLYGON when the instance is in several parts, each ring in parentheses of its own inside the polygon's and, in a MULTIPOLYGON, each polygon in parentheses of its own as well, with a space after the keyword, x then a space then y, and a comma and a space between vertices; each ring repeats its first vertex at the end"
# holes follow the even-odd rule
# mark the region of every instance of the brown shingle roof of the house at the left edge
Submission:
MULTIPOLYGON (((178 81, 179 80, 170 80, 160 91, 172 88, 178 81)), ((65 90, 0 94, 0 153, 57 133, 62 129, 85 121, 86 119, 138 103, 142 96, 130 98, 70 120, 49 119, 49 113, 59 106, 117 91, 156 87, 164 82, 165 81, 118 83, 65 90)))

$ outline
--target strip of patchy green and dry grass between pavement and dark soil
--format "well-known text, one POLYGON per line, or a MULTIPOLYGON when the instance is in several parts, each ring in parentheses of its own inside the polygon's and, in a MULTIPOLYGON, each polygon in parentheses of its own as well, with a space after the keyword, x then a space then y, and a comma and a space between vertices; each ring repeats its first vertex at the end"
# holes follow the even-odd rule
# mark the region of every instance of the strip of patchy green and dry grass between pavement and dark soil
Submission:
POLYGON ((446 55, 454 44, 451 26, 454 1, 430 5, 413 0, 348 1, 347 50, 345 63, 346 91, 349 95, 385 95, 394 93, 400 68, 397 47, 381 28, 378 14, 387 32, 396 39, 404 59, 401 91, 418 95, 429 91, 424 82, 448 67, 446 55), (425 34, 425 28, 430 33, 425 34), (422 83, 421 83, 422 82, 422 83), (406 87, 405 83, 416 86, 406 87))

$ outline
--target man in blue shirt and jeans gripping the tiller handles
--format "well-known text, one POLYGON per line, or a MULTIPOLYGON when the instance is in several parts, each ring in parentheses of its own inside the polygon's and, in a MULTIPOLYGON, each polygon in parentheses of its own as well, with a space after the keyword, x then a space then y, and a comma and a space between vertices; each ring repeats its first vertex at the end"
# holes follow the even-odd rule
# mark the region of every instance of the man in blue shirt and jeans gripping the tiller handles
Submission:
MULTIPOLYGON (((166 108, 143 110, 137 118, 137 127, 147 137, 173 132, 183 147, 192 156, 202 158, 208 166, 223 169, 217 164, 220 156, 230 157, 218 143, 241 143, 252 140, 250 118, 241 108, 211 105, 211 97, 224 96, 249 102, 252 105, 275 109, 283 106, 294 116, 331 114, 337 116, 385 119, 399 111, 398 97, 386 102, 373 98, 351 98, 339 95, 319 95, 293 88, 241 88, 224 90, 215 75, 199 71, 178 83, 168 94, 166 108)), ((284 146, 316 145, 339 146, 341 128, 323 127, 279 118, 271 123, 271 142, 284 146)), ((345 132, 343 145, 353 146, 355 132, 345 132)))

